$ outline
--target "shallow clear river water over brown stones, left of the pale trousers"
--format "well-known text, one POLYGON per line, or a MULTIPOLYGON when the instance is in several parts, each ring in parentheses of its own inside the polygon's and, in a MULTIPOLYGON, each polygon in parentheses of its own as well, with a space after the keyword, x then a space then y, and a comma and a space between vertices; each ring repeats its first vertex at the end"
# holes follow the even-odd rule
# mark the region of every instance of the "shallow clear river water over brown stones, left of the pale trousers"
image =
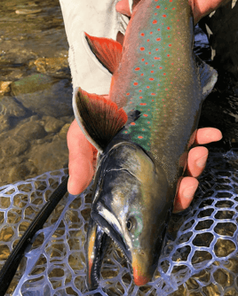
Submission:
POLYGON ((71 99, 59 1, 1 1, 0 185, 67 167, 71 99))

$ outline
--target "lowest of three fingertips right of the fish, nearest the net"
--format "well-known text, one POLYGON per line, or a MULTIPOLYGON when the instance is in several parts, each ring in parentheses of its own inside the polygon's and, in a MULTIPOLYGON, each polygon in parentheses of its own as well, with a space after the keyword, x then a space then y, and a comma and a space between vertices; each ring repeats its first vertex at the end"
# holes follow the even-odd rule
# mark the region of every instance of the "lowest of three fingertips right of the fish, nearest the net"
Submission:
POLYGON ((191 176, 186 176, 182 179, 178 187, 177 196, 174 200, 173 213, 181 212, 190 206, 198 184, 197 179, 191 176))

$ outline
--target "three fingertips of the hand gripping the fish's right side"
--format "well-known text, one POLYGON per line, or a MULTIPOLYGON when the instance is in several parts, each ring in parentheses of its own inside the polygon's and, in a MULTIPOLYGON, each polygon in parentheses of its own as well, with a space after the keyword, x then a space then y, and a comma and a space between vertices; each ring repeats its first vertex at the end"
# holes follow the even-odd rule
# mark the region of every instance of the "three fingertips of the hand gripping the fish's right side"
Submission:
MULTIPOLYGON (((219 141, 221 138, 222 134, 218 129, 198 129, 194 145, 209 144, 210 142, 219 141)), ((174 201, 173 213, 185 210, 194 199, 194 193, 199 184, 196 178, 202 174, 207 158, 208 149, 203 146, 194 147, 188 153, 186 176, 182 178, 179 184, 177 197, 174 201)))

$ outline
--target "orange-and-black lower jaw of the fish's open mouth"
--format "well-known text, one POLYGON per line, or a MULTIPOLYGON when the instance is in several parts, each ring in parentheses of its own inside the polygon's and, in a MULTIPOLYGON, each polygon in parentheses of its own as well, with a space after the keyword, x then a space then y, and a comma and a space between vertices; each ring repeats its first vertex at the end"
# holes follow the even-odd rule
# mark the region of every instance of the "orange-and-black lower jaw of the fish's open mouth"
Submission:
POLYGON ((87 283, 89 290, 97 289, 99 286, 101 263, 107 249, 108 239, 107 234, 91 219, 86 242, 87 283))

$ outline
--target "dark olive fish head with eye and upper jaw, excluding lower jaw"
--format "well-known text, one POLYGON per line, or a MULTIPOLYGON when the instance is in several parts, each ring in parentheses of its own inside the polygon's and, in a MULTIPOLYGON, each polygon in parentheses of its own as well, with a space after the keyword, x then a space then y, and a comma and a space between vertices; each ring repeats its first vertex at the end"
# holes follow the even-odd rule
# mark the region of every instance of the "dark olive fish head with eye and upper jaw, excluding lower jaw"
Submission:
POLYGON ((123 251, 135 284, 153 277, 171 215, 163 169, 139 145, 115 144, 103 156, 91 217, 123 251))

